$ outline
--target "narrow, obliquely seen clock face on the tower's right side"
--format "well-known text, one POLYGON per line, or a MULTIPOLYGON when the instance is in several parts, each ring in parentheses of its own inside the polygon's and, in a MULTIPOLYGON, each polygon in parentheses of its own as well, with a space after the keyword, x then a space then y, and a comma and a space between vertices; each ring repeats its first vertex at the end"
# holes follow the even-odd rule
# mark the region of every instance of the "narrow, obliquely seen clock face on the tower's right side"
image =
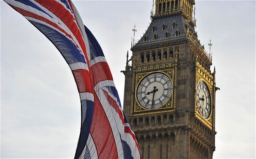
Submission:
POLYGON ((197 105, 201 115, 206 119, 211 113, 211 97, 208 87, 203 81, 197 83, 197 105))

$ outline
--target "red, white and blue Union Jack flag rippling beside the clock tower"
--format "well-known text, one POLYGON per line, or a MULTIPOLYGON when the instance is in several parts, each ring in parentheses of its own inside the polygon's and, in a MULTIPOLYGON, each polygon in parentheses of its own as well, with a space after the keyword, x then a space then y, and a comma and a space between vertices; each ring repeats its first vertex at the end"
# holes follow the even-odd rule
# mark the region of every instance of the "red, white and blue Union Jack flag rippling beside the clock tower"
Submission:
POLYGON ((102 48, 71 0, 5 0, 59 50, 81 100, 81 132, 74 158, 140 158, 102 48))

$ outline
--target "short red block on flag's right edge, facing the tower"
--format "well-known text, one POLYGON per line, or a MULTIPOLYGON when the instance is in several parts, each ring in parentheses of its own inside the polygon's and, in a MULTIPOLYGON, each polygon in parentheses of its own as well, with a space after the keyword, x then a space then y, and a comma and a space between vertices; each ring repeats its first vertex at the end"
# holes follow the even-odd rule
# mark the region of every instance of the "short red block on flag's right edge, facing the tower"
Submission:
POLYGON ((105 81, 105 80, 113 81, 113 77, 111 75, 109 65, 107 64, 107 62, 96 63, 90 68, 90 73, 91 73, 91 76, 93 77, 92 79, 93 87, 100 81, 105 81))

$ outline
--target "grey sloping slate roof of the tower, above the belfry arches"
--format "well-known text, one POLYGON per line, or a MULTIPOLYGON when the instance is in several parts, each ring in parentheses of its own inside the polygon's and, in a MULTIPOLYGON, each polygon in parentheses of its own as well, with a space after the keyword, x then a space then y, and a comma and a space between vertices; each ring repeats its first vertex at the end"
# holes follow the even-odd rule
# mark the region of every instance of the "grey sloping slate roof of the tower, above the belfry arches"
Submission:
POLYGON ((153 18, 145 34, 137 44, 131 48, 131 50, 187 40, 187 25, 189 26, 190 31, 193 32, 193 35, 195 35, 194 26, 191 23, 188 23, 186 21, 186 17, 182 14, 153 18), (176 24, 176 28, 173 28, 173 22, 176 24), (162 30, 163 24, 166 25, 165 30, 162 30), (155 32, 153 32, 153 26, 156 27, 155 32), (179 36, 175 36, 175 32, 177 30, 179 32, 179 36), (168 32, 169 37, 165 37, 166 32, 168 32), (154 35, 157 35, 157 39, 154 39, 154 35), (147 41, 144 41, 145 36, 147 36, 147 41))

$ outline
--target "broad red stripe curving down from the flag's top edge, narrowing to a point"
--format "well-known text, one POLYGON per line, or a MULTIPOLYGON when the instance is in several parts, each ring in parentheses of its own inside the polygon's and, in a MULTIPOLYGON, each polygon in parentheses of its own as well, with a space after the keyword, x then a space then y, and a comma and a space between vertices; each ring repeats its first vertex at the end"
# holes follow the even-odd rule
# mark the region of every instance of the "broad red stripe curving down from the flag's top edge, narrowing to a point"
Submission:
POLYGON ((80 30, 78 29, 77 24, 74 22, 73 15, 59 2, 55 0, 35 0, 40 5, 48 9, 50 12, 55 14, 68 28, 71 30, 73 35, 76 37, 78 43, 80 44, 83 53, 85 54, 86 62, 89 63, 86 49, 85 49, 85 43, 83 41, 83 37, 81 35, 80 30))

